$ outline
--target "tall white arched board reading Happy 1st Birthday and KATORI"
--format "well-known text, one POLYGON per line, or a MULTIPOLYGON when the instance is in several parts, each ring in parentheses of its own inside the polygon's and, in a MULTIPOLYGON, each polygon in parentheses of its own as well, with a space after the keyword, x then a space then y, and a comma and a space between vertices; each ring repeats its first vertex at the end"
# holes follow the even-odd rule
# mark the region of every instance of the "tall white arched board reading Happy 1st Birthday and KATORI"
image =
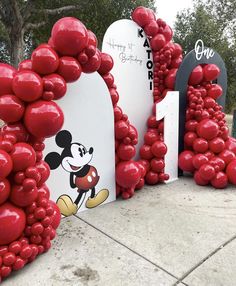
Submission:
POLYGON ((153 59, 149 41, 135 22, 119 20, 107 29, 102 51, 114 60, 111 73, 120 95, 119 106, 138 131, 135 157, 138 159, 153 106, 153 59))

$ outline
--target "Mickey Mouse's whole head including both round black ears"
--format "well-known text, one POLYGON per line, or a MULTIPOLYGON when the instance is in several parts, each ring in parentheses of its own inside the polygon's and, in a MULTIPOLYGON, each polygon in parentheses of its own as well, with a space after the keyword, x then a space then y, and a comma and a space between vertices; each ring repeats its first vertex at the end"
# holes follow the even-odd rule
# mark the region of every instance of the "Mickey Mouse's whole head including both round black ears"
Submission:
POLYGON ((61 155, 57 152, 51 152, 45 157, 45 161, 51 170, 57 169, 60 164, 63 169, 70 173, 76 173, 87 165, 93 157, 93 148, 89 151, 80 143, 71 143, 72 136, 69 131, 60 131, 56 138, 59 147, 64 148, 61 155))

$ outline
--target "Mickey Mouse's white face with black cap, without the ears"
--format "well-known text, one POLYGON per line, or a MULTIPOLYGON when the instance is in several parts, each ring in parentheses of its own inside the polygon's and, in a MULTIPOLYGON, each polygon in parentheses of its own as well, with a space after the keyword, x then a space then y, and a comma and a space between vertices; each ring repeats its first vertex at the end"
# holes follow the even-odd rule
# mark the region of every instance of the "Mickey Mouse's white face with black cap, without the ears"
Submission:
POLYGON ((83 166, 87 165, 93 157, 93 148, 89 151, 78 143, 73 143, 70 146, 70 154, 67 156, 67 150, 62 152, 62 162, 61 165, 67 172, 73 173, 79 171, 83 166))

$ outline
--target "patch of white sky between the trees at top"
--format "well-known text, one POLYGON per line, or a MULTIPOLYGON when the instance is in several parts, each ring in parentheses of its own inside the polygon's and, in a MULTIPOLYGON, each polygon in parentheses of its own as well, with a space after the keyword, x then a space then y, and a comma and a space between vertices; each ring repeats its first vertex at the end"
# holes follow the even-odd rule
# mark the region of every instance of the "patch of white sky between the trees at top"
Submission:
POLYGON ((157 17, 173 28, 177 12, 192 6, 193 0, 156 0, 157 17))

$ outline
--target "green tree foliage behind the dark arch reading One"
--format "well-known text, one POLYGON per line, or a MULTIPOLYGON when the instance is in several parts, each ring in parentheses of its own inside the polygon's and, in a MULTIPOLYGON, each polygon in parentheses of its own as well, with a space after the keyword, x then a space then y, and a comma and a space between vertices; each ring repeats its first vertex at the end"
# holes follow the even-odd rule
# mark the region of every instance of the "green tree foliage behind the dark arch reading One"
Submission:
POLYGON ((174 41, 185 53, 202 39, 224 59, 228 72, 226 111, 236 108, 236 1, 195 0, 193 9, 177 15, 174 41))

